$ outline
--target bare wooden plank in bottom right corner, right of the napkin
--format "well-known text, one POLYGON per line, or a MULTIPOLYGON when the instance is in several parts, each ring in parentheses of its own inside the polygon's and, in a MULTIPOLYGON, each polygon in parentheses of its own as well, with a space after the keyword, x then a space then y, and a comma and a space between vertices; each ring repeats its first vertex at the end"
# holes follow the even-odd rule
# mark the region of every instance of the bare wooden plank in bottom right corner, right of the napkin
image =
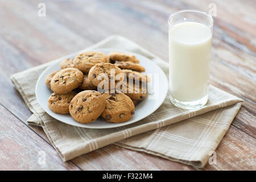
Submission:
POLYGON ((256 170, 256 140, 230 126, 216 150, 217 164, 207 164, 204 170, 256 170))

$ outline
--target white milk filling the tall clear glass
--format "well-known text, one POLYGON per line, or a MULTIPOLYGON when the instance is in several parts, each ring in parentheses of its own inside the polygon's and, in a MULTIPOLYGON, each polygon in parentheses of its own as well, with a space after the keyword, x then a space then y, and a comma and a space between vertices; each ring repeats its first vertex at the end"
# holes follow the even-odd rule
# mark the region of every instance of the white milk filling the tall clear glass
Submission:
POLYGON ((170 91, 179 101, 207 95, 212 33, 202 23, 177 23, 169 32, 170 91))

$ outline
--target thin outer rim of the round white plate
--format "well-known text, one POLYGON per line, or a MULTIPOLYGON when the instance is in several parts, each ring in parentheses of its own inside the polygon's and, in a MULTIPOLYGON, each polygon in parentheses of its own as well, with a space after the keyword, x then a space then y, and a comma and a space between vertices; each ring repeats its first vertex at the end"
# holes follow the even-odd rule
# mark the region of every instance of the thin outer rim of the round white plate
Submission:
MULTIPOLYGON (((39 103, 39 105, 42 107, 42 109, 44 110, 44 107, 42 106, 42 104, 39 102, 39 99, 38 99, 38 89, 39 89, 39 80, 42 80, 42 77, 43 77, 43 75, 44 75, 44 73, 45 72, 47 72, 48 71, 48 69, 51 69, 51 67, 52 67, 52 65, 53 64, 56 64, 57 62, 59 62, 59 61, 61 61, 61 60, 63 60, 63 59, 67 59, 68 57, 71 57, 71 56, 73 56, 73 55, 76 55, 76 54, 79 54, 80 52, 84 52, 84 51, 86 51, 86 50, 89 50, 89 49, 82 49, 81 51, 77 51, 77 52, 75 52, 75 53, 71 53, 71 54, 69 54, 69 55, 66 55, 66 56, 63 56, 63 57, 60 57, 60 58, 58 58, 58 59, 56 59, 56 60, 52 60, 52 64, 50 64, 50 65, 48 65, 48 67, 46 68, 46 69, 44 69, 44 71, 40 74, 40 76, 38 77, 38 80, 36 81, 36 85, 35 85, 35 96, 36 96, 36 100, 38 100, 38 103, 39 103)), ((150 59, 148 59, 146 56, 143 56, 143 55, 141 55, 140 53, 137 53, 137 52, 133 52, 133 51, 129 51, 129 50, 126 50, 126 49, 112 49, 112 48, 92 48, 92 50, 93 51, 119 51, 119 52, 127 52, 127 53, 133 53, 133 54, 135 54, 135 55, 139 55, 139 56, 142 56, 142 57, 144 57, 144 58, 146 58, 147 60, 150 60, 150 59)), ((150 60, 152 63, 154 63, 154 64, 156 64, 154 61, 152 61, 152 60, 150 60)), ((49 62, 51 62, 51 61, 49 61, 49 62)), ((156 64, 157 65, 157 64, 156 64)), ((159 67, 159 65, 157 65, 158 67, 159 67)), ((159 67, 160 68, 160 67, 159 67)), ((49 114, 51 117, 53 117, 53 118, 55 118, 57 121, 60 121, 60 122, 63 122, 63 123, 65 123, 65 124, 67 124, 67 125, 71 125, 71 126, 76 126, 76 127, 82 127, 82 128, 88 128, 88 129, 110 129, 110 128, 117 128, 117 127, 122 127, 122 126, 127 126, 127 125, 131 125, 132 123, 135 123, 135 122, 139 122, 139 121, 141 121, 142 119, 144 119, 144 118, 146 118, 146 117, 148 117, 148 115, 151 115, 152 113, 154 113, 162 104, 163 104, 163 102, 164 102, 164 100, 166 99, 166 96, 167 96, 167 93, 168 93, 168 79, 167 79, 167 76, 166 76, 166 74, 163 72, 163 69, 162 68, 160 68, 159 69, 160 70, 160 72, 162 72, 162 74, 164 75, 164 80, 166 81, 166 83, 167 83, 167 87, 166 87, 166 90, 164 90, 164 97, 162 97, 162 101, 159 101, 158 103, 158 105, 152 110, 152 111, 150 111, 150 113, 149 114, 146 114, 143 118, 140 118, 139 120, 135 120, 135 121, 133 121, 133 122, 131 122, 131 123, 127 123, 127 122, 122 122, 122 123, 120 123, 120 124, 122 124, 122 125, 120 125, 120 126, 111 126, 111 125, 109 125, 109 126, 107 126, 107 127, 96 127, 96 126, 89 126, 89 125, 87 125, 86 126, 86 124, 84 125, 84 126, 77 126, 77 125, 72 125, 72 123, 67 123, 67 122, 65 122, 65 121, 61 121, 61 120, 59 120, 59 119, 57 119, 54 115, 52 115, 51 113, 48 113, 46 110, 44 110, 44 112, 46 112, 47 114, 49 114)), ((57 114, 57 113, 56 113, 57 114)), ((79 123, 79 124, 82 124, 82 123, 79 123)), ((118 123, 115 123, 115 124, 118 124, 118 123)))

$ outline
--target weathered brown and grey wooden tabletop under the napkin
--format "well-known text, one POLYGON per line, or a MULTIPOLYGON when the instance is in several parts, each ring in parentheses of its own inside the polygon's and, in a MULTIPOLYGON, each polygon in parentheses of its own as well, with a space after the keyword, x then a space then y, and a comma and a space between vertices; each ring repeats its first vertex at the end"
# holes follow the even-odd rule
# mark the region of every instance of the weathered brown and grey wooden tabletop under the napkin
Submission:
POLYGON ((201 170, 113 144, 63 162, 11 84, 13 73, 79 51, 113 34, 168 61, 168 15, 181 9, 214 17, 210 84, 244 100, 218 146, 217 164, 203 170, 256 169, 256 2, 251 1, 0 1, 0 169, 201 170), (46 17, 38 4, 46 4, 46 17), (46 164, 38 163, 46 151, 46 164))

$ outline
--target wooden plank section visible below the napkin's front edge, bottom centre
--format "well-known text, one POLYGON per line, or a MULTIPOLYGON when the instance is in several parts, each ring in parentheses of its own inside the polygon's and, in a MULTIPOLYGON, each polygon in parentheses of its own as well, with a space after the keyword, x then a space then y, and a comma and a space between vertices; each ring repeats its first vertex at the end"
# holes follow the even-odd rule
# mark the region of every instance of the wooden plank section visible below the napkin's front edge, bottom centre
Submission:
POLYGON ((195 170, 185 164, 113 144, 72 160, 84 170, 195 170))

